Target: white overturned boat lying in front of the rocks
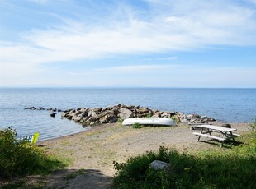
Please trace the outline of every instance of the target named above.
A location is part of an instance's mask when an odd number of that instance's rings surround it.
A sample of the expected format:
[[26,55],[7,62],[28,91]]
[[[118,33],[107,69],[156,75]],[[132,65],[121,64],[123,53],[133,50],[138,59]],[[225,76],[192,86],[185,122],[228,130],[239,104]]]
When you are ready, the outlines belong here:
[[135,124],[135,122],[138,122],[141,125],[176,125],[176,122],[174,122],[171,118],[127,118],[122,124],[132,125]]

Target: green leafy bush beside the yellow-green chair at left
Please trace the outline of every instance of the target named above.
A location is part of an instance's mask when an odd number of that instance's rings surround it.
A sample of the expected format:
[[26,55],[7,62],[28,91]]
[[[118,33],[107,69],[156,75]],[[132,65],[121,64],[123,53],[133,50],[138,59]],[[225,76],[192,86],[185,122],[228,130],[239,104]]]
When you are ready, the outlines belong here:
[[17,132],[12,127],[0,130],[0,177],[49,173],[53,168],[64,166],[59,160],[48,157],[36,145],[17,140]]

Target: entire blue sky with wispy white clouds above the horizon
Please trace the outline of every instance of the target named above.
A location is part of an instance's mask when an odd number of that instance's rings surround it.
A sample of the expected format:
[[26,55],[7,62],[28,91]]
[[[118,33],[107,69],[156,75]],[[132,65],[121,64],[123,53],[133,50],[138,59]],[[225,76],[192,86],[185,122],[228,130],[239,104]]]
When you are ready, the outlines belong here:
[[0,0],[0,87],[256,87],[256,0]]

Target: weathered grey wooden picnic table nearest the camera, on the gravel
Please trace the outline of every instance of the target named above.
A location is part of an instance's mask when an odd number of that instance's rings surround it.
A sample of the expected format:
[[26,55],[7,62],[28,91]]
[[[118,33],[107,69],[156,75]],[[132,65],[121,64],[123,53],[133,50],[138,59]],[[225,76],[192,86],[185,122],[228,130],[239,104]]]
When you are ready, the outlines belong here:
[[[198,125],[197,127],[201,128],[200,133],[199,132],[193,132],[194,135],[198,136],[198,140],[200,141],[201,136],[209,137],[211,139],[216,139],[218,141],[221,141],[220,147],[223,146],[224,141],[233,139],[235,141],[236,136],[240,136],[239,134],[233,133],[233,131],[236,131],[234,128],[226,128],[226,127],[219,127],[219,126],[213,126],[213,125]],[[220,133],[220,136],[213,136],[212,133]]]

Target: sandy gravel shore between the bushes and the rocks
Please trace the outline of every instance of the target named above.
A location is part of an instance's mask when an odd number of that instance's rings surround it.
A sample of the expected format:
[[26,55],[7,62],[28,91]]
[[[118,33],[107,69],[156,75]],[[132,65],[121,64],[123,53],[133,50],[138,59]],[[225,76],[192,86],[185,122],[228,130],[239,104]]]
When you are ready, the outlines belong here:
[[[221,124],[214,122],[214,125]],[[249,131],[249,123],[230,124],[237,129],[236,133],[243,135]],[[197,142],[197,136],[192,135],[192,130],[182,123],[176,127],[140,129],[121,126],[120,123],[104,124],[74,135],[41,141],[37,145],[47,154],[71,159],[72,162],[46,177],[49,188],[110,188],[115,174],[113,161],[125,162],[131,156],[158,150],[159,146],[181,151],[220,148],[220,145]],[[31,182],[35,179],[45,182],[45,178],[40,177],[33,177]]]

